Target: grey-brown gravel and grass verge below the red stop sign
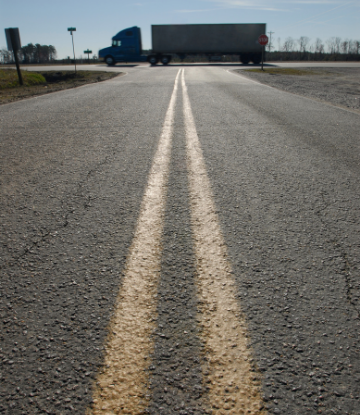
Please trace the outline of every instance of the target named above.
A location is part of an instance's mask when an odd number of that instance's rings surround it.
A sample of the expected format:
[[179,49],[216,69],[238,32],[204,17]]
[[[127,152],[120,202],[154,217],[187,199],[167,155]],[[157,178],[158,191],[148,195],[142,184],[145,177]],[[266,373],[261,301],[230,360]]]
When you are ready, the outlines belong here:
[[236,70],[263,84],[360,112],[360,68]]

